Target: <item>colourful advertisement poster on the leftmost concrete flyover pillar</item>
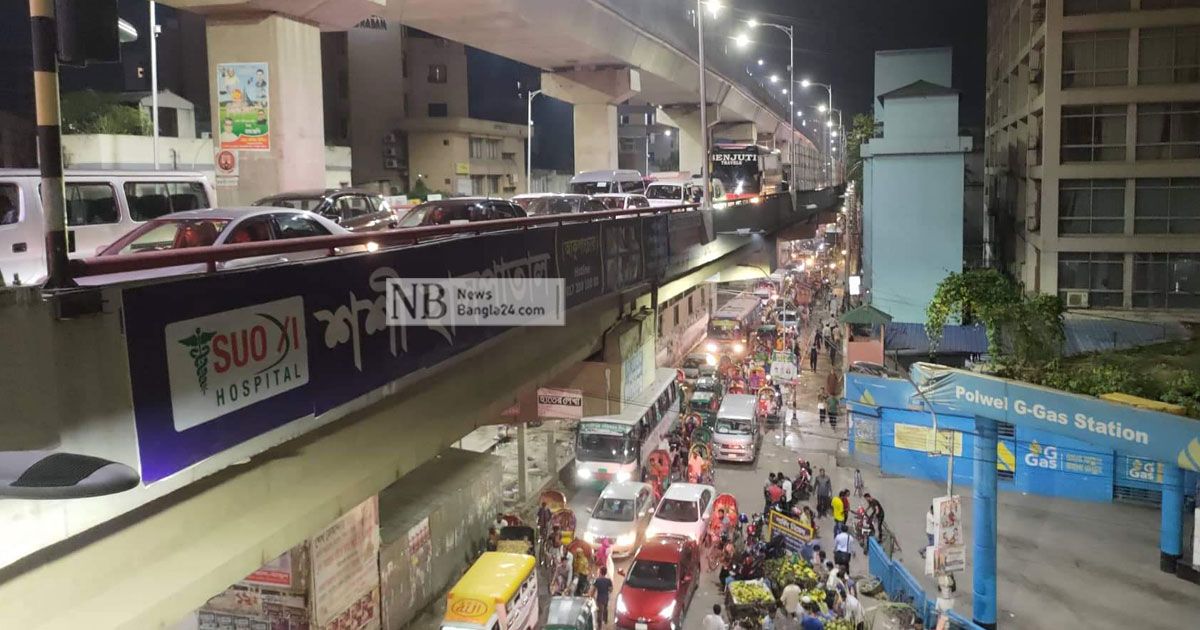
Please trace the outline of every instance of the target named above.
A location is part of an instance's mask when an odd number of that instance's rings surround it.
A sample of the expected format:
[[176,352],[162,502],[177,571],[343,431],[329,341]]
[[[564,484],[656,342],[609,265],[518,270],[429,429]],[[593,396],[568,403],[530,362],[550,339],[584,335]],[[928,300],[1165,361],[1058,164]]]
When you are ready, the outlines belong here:
[[270,71],[265,61],[217,64],[220,148],[270,151]]

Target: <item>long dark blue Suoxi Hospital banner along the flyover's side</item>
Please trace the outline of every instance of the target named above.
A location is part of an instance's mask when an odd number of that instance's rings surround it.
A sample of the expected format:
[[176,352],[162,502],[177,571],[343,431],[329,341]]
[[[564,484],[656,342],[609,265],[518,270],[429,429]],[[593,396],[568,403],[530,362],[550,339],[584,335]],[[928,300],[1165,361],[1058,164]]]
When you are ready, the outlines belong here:
[[[686,217],[668,220],[677,216]],[[566,277],[570,307],[641,282],[643,220],[484,234],[125,288],[142,479],[152,484],[295,420],[319,419],[506,330],[388,326],[390,278]],[[630,362],[631,377],[640,366]]]

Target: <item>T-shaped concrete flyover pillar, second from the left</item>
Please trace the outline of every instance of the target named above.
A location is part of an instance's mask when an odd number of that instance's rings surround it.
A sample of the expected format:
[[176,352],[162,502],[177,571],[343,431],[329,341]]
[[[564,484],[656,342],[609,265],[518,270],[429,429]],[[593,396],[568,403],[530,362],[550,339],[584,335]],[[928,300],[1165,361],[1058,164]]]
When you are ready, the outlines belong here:
[[617,106],[642,90],[641,74],[634,68],[542,72],[541,90],[575,106],[575,170],[617,168]]

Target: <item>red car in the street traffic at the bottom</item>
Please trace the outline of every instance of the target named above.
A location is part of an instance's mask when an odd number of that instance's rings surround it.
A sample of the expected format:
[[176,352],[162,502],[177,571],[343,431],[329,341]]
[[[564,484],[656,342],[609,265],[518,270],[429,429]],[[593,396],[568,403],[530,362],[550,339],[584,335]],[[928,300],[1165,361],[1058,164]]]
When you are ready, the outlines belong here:
[[617,628],[677,630],[700,582],[700,548],[683,536],[647,541],[617,593]]

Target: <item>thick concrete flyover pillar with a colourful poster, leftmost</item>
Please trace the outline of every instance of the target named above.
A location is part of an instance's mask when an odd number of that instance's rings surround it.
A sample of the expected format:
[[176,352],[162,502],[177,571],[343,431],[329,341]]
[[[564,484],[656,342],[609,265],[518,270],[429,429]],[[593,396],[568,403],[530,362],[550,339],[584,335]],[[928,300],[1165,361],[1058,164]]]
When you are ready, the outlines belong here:
[[[210,16],[208,44],[214,145],[241,145],[236,184],[217,188],[220,203],[250,205],[276,192],[323,188],[320,29],[280,16]],[[257,72],[262,64],[265,90]],[[235,73],[222,74],[229,70]],[[232,134],[230,124],[224,122],[230,116],[221,115],[222,103],[227,113],[234,113]],[[239,134],[244,124],[262,128],[264,121],[265,138]]]

